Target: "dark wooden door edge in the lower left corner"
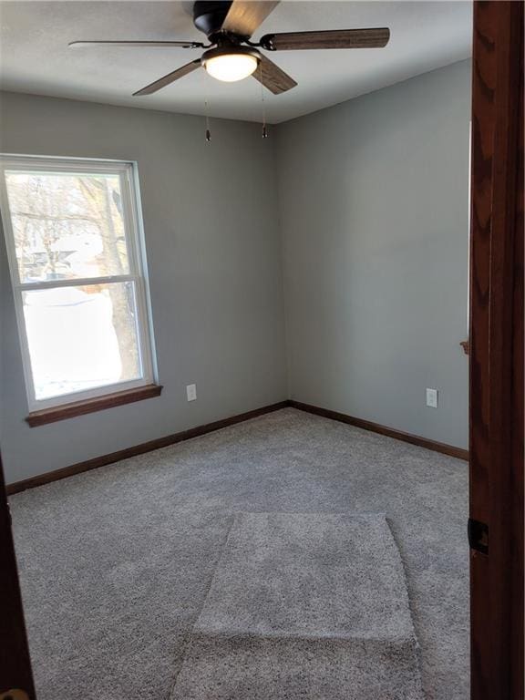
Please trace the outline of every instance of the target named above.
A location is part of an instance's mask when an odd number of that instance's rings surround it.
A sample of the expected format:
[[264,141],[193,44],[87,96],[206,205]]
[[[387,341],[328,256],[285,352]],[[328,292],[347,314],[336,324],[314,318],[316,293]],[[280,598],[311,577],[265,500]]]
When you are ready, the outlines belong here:
[[26,693],[28,700],[35,700],[35,685],[27,645],[26,622],[16,568],[11,516],[5,498],[1,458],[0,571],[2,571],[0,575],[0,695],[4,697],[7,691],[18,689]]

